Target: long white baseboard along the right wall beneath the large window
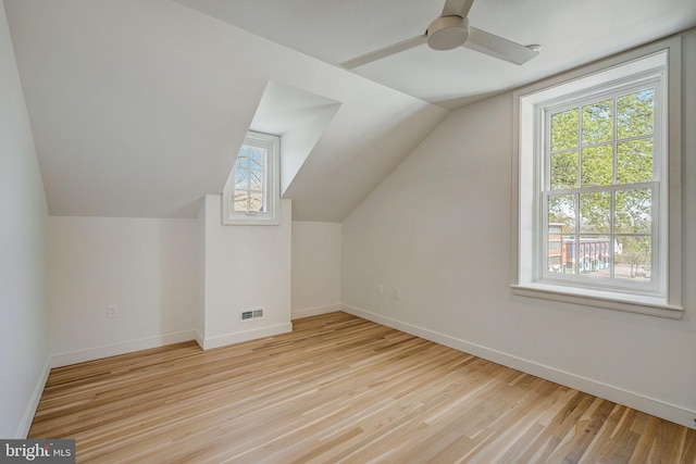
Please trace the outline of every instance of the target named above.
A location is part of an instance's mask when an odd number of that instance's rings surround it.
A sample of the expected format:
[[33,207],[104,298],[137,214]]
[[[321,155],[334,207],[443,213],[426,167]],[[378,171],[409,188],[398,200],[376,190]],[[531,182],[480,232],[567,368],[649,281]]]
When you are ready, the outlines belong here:
[[470,343],[445,334],[397,321],[391,317],[386,317],[359,308],[341,304],[341,311],[439,344],[444,344],[445,347],[449,347],[455,350],[473,354],[504,366],[512,367],[514,369],[555,381],[579,391],[594,394],[595,397],[604,398],[614,403],[626,405],[634,410],[642,411],[688,428],[696,428],[696,411],[689,411],[660,400],[647,398],[639,393],[612,387],[597,380],[569,372],[559,371],[547,365],[538,364],[497,350],[492,350],[480,344]]

